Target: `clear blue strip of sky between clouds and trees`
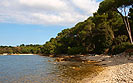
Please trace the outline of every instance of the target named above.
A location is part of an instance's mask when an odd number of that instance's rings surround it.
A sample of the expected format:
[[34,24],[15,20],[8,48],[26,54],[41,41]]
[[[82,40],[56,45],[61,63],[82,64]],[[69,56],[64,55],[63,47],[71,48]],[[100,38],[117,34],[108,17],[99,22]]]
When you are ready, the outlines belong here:
[[0,23],[0,45],[44,44],[66,26]]

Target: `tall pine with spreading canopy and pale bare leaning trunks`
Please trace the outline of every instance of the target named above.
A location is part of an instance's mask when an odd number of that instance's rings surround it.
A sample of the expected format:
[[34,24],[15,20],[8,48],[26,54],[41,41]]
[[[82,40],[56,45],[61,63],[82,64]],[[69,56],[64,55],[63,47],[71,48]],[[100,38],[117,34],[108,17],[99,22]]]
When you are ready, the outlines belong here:
[[100,3],[98,13],[106,13],[108,11],[117,11],[123,19],[123,23],[127,29],[130,42],[133,44],[131,25],[128,20],[129,9],[133,7],[133,0],[104,0]]

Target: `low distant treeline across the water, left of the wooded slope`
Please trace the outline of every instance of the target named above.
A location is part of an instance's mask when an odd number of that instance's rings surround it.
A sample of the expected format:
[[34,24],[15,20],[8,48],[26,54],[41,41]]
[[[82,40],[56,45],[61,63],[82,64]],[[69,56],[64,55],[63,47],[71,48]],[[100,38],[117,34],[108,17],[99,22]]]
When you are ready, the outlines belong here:
[[0,54],[41,54],[41,45],[0,46]]

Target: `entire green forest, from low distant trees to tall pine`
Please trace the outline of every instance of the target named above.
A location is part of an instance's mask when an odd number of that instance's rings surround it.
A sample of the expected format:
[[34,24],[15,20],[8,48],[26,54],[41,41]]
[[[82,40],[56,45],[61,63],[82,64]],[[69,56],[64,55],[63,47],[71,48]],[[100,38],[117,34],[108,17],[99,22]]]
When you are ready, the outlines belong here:
[[133,48],[132,36],[133,0],[104,0],[93,16],[44,45],[1,46],[0,54],[118,54]]

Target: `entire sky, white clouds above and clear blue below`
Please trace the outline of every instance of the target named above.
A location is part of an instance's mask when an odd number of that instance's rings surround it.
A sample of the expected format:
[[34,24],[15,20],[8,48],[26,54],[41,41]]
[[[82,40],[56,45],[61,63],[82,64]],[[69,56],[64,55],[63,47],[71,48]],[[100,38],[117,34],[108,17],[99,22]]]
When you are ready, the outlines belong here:
[[42,45],[92,16],[101,1],[0,0],[0,45]]

